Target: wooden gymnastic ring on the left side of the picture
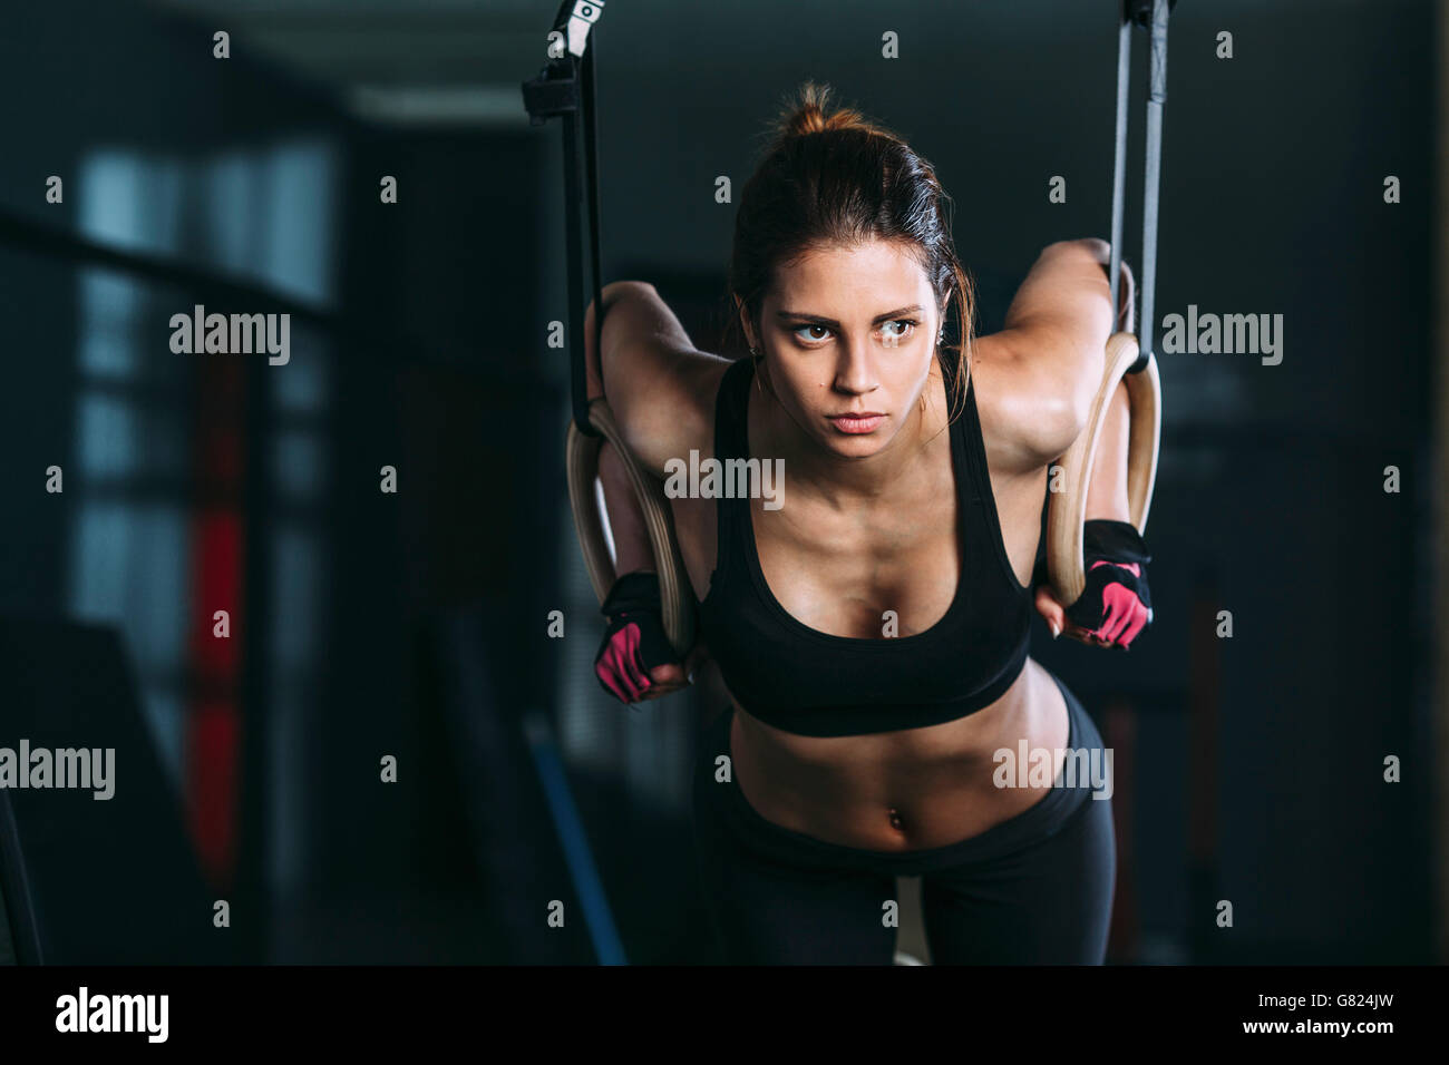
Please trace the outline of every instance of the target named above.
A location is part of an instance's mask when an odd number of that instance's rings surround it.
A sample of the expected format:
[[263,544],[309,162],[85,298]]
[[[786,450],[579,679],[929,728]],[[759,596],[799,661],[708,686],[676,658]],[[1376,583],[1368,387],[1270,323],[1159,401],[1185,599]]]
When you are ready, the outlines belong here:
[[609,540],[604,538],[603,514],[600,514],[598,496],[594,488],[598,478],[598,452],[604,446],[604,440],[609,440],[614,445],[625,469],[629,472],[629,484],[633,487],[635,498],[643,511],[645,526],[649,530],[649,546],[653,548],[653,567],[659,575],[664,635],[682,662],[694,646],[694,610],[690,600],[685,598],[694,591],[680,555],[678,539],[674,535],[674,511],[669,509],[669,500],[664,494],[661,481],[640,467],[629,448],[625,446],[619,426],[614,425],[614,414],[603,397],[590,401],[588,423],[600,432],[600,436],[581,433],[574,420],[569,419],[564,455],[568,471],[568,501],[574,509],[574,532],[578,533],[578,546],[584,552],[584,567],[594,585],[594,596],[603,606],[609,590],[614,587],[619,577],[609,551]]

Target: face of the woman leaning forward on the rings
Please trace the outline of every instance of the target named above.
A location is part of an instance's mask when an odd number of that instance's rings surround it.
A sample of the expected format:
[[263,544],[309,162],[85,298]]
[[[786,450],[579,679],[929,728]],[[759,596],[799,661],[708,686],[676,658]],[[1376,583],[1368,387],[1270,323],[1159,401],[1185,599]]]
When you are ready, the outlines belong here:
[[836,455],[867,458],[911,425],[940,309],[909,245],[869,241],[777,270],[759,329],[752,342],[791,420]]

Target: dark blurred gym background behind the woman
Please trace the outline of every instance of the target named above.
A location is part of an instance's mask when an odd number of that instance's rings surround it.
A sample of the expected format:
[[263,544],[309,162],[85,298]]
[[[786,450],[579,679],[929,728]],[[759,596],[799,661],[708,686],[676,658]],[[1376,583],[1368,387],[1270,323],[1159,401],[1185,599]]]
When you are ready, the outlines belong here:
[[[12,795],[48,959],[593,962],[613,926],[629,961],[713,961],[685,788],[704,707],[626,713],[588,669],[545,343],[562,154],[519,93],[555,4],[232,7],[67,0],[0,35],[0,746],[117,735],[146,781],[126,810]],[[604,278],[652,281],[714,348],[714,180],[739,193],[814,78],[936,165],[997,329],[1043,245],[1108,236],[1113,9],[611,1]],[[1156,622],[1130,656],[1033,636],[1119,751],[1111,961],[1435,959],[1433,39],[1427,0],[1172,16],[1159,317],[1281,313],[1285,349],[1159,356]],[[1126,246],[1137,268],[1130,225]],[[171,354],[194,303],[297,309],[291,362]],[[55,845],[107,833],[149,842]],[[97,875],[122,901],[46,901]]]

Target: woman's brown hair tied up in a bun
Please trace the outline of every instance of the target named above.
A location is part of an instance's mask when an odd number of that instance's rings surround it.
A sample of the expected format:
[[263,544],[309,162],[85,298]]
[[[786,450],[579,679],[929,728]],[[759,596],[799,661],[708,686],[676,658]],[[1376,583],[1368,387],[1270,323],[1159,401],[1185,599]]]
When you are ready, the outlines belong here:
[[842,107],[827,113],[830,87],[804,83],[771,125],[772,138],[740,196],[729,268],[729,326],[739,330],[738,298],[756,333],[774,271],[801,252],[868,239],[910,243],[930,278],[938,306],[956,307],[958,342],[946,338],[938,358],[951,354],[955,394],[951,417],[965,404],[971,374],[975,291],[956,259],[951,236],[952,200],[935,168],[895,133]]

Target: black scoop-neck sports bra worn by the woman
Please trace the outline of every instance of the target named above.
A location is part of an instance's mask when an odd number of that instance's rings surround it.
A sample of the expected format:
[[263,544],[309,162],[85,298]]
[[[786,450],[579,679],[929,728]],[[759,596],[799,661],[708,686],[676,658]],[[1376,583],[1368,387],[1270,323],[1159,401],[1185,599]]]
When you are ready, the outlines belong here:
[[[714,455],[749,456],[746,410],[753,364],[739,359],[714,403]],[[948,369],[946,387],[951,388]],[[793,617],[759,568],[751,500],[716,498],[719,539],[700,636],[739,704],[801,736],[919,729],[990,706],[1026,667],[1032,593],[1011,569],[987,471],[975,381],[951,425],[961,578],[945,616],[911,636],[856,639]]]

